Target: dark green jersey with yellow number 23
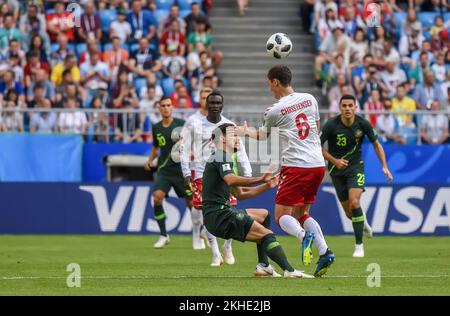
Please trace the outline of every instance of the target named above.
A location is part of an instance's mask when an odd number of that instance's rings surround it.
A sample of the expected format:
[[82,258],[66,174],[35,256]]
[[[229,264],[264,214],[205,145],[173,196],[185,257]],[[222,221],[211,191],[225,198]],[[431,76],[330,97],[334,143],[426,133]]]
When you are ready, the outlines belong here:
[[355,116],[352,126],[345,126],[341,121],[341,115],[328,120],[320,135],[322,145],[328,141],[328,152],[337,159],[346,159],[349,164],[343,170],[338,170],[333,164],[328,163],[331,176],[351,175],[355,172],[364,172],[361,146],[367,136],[370,142],[377,140],[377,132],[369,121],[359,115]]

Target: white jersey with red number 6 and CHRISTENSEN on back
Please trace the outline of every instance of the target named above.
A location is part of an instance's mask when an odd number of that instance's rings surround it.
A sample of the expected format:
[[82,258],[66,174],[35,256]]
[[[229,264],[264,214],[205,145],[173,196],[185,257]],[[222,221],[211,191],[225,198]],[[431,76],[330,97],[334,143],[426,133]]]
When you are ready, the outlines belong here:
[[[281,98],[264,113],[263,130],[274,127],[280,134],[281,165],[286,167],[324,167],[317,121],[317,100],[308,93],[292,93]],[[272,131],[274,132],[274,131]]]

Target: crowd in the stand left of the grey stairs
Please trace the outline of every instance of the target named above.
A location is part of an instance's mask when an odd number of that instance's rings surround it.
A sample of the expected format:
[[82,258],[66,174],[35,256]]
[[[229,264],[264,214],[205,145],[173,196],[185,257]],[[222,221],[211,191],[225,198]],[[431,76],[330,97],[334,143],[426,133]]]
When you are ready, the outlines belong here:
[[[175,108],[197,107],[202,87],[219,85],[222,53],[212,48],[211,5],[0,0],[0,131],[151,142],[157,114],[76,109],[156,109],[163,95]],[[12,110],[18,108],[73,110]]]

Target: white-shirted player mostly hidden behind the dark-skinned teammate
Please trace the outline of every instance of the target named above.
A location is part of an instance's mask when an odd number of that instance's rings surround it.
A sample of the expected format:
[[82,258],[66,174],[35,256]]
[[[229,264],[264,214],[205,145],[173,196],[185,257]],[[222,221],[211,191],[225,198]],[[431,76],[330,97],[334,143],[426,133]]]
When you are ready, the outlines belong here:
[[[193,138],[194,128],[201,125],[201,121],[208,114],[208,110],[206,108],[206,98],[213,90],[208,87],[204,87],[200,91],[200,109],[189,116],[184,124],[182,136],[185,133],[189,134],[189,137]],[[187,144],[188,143],[188,144]],[[192,142],[183,142],[180,144],[180,158],[181,158],[181,171],[183,172],[183,177],[185,179],[185,186],[193,191],[196,194],[194,188],[192,187],[193,178],[195,178],[195,164],[191,161],[191,152],[194,149],[191,145]],[[186,148],[184,146],[187,146]],[[197,194],[198,196],[198,194]],[[201,196],[201,193],[200,193]],[[202,215],[202,207],[200,205],[196,205],[194,201],[194,208],[191,212],[191,220],[192,220],[192,247],[196,250],[205,248],[205,241],[201,238],[201,227],[203,222]],[[199,206],[199,207],[198,207]],[[202,231],[204,232],[204,230]],[[206,239],[207,240],[207,239]]]

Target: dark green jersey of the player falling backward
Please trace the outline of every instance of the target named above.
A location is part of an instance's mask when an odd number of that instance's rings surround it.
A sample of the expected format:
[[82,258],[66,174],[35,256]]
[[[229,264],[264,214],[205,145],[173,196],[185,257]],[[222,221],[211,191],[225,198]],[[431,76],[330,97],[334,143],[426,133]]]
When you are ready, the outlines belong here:
[[203,216],[230,207],[231,188],[223,178],[227,174],[234,173],[233,170],[234,163],[231,156],[222,150],[217,150],[208,159],[202,183]]

